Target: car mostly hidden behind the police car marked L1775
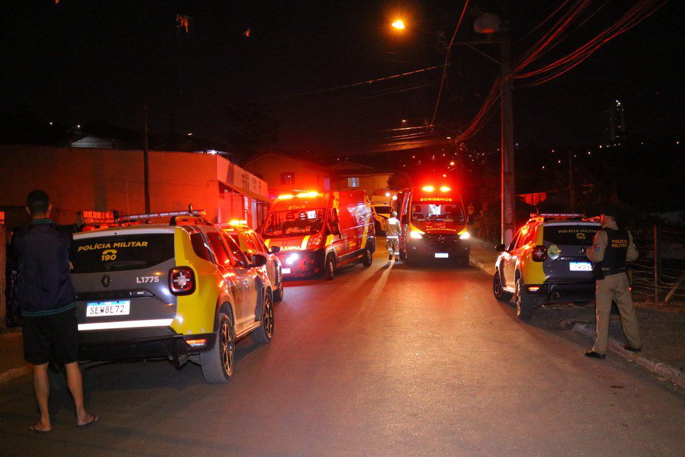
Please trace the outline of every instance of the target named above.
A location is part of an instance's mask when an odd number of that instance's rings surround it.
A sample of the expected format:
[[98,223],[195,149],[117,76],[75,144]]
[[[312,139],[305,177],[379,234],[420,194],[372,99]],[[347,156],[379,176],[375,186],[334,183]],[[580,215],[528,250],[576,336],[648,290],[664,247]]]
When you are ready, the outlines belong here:
[[248,227],[246,221],[231,221],[217,227],[238,243],[247,258],[251,258],[252,254],[262,254],[266,257],[264,268],[269,275],[269,281],[273,284],[273,301],[281,301],[284,293],[283,271],[281,261],[276,255],[281,249],[278,246],[272,246],[271,249],[266,247],[262,237]]

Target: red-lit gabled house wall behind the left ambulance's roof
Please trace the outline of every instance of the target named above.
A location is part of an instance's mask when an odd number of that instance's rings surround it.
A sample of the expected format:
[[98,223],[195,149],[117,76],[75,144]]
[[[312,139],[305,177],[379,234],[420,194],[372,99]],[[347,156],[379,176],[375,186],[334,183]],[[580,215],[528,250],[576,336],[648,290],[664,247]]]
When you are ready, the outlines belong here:
[[[328,172],[323,166],[314,163],[268,153],[247,162],[244,167],[266,181],[270,194],[294,189],[327,190],[324,179],[328,177]],[[282,184],[281,175],[288,172],[294,174],[295,180],[292,184]]]

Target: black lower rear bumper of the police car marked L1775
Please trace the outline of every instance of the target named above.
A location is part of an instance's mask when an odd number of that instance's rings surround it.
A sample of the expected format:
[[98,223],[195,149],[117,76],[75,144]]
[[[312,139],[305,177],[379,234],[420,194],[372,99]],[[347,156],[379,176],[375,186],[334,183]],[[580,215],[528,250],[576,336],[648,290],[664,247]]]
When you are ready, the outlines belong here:
[[90,330],[79,332],[79,340],[81,360],[163,357],[171,358],[180,366],[188,356],[210,351],[216,342],[216,333],[183,335],[171,327]]

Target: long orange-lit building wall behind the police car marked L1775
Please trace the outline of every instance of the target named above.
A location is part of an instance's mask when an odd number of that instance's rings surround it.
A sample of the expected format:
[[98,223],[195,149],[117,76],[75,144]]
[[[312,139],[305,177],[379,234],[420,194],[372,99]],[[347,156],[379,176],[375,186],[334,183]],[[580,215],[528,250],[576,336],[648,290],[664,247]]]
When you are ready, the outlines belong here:
[[[184,210],[192,203],[215,221],[217,160],[225,159],[184,152],[149,154],[151,210]],[[53,202],[53,220],[61,224],[77,223],[77,212],[83,210],[141,214],[145,212],[143,180],[142,151],[0,145],[0,210],[21,208],[31,190],[42,189]],[[14,213],[18,211],[8,214]],[[242,219],[242,214],[230,216]],[[7,222],[8,226],[23,223]]]

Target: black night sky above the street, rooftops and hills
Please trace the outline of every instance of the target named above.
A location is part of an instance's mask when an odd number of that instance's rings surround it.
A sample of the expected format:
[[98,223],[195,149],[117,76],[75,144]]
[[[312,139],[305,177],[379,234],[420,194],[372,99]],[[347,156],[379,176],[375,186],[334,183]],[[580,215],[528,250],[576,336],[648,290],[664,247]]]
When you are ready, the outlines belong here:
[[[510,3],[514,58],[549,29],[551,23],[525,37],[561,3]],[[533,67],[584,44],[635,1],[604,3],[596,1],[589,11],[599,11]],[[471,1],[456,41],[482,38],[473,32],[477,12],[503,14],[503,5]],[[444,31],[449,41],[462,6],[462,1],[3,1],[0,110],[25,106],[45,121],[140,128],[148,103],[153,132],[173,128],[225,140],[225,107],[256,101],[280,124],[279,149],[328,157],[363,153],[388,136],[384,130],[401,126],[401,119],[421,125],[432,115],[439,70],[297,94],[442,64],[437,37],[427,32]],[[606,141],[603,111],[612,99],[623,101],[631,134],[680,136],[683,12],[683,2],[671,0],[569,73],[543,86],[516,87],[516,141],[549,146]],[[177,28],[177,14],[190,16],[187,34]],[[408,22],[404,34],[389,27],[397,17]],[[499,58],[495,45],[479,49]],[[458,130],[473,118],[499,69],[463,46],[452,49],[451,63],[436,123]],[[498,142],[499,116],[469,140],[485,148]]]

